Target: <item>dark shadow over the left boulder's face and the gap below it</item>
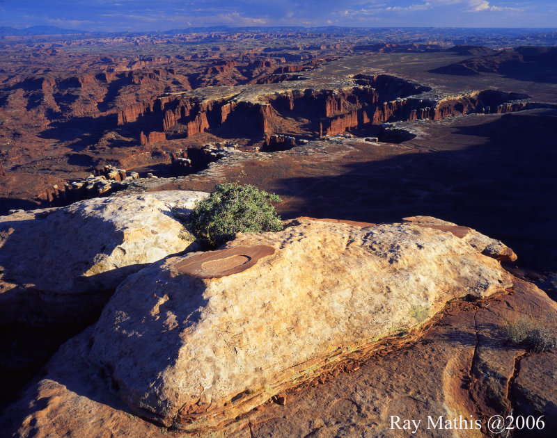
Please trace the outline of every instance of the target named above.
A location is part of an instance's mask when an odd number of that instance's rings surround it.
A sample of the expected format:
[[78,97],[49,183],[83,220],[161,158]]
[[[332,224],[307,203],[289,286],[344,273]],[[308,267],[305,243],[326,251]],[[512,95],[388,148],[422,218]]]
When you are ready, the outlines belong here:
[[[100,237],[79,232],[82,227]],[[97,321],[123,279],[145,266],[85,277],[90,268],[95,272],[96,254],[112,254],[123,243],[123,232],[91,215],[55,211],[35,220],[3,222],[0,231],[8,229],[13,232],[0,251],[0,371],[10,383],[1,391],[1,407],[61,343]]]

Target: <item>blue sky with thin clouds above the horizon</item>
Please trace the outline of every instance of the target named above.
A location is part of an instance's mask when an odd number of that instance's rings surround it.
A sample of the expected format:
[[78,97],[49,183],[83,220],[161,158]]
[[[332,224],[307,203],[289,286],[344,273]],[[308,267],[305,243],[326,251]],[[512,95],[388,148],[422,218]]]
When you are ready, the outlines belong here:
[[557,1],[0,0],[0,26],[155,31],[220,24],[557,27]]

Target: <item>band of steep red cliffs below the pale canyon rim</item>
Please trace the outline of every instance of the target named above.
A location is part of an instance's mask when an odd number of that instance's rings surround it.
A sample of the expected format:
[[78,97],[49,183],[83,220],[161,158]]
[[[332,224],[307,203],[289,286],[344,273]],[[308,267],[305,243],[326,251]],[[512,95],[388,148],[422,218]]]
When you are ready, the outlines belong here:
[[164,96],[124,108],[118,113],[118,125],[136,129],[142,145],[205,131],[239,138],[302,132],[317,137],[338,135],[367,124],[506,113],[540,105],[524,102],[526,95],[499,90],[420,98],[430,88],[406,79],[363,74],[353,79],[353,87],[288,90],[262,95],[258,102]]

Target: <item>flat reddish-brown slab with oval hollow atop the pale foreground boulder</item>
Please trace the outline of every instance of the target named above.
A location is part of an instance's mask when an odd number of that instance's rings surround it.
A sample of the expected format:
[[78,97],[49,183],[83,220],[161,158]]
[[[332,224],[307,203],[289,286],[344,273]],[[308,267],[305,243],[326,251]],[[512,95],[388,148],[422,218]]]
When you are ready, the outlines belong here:
[[221,278],[251,268],[259,259],[274,254],[268,245],[235,246],[226,250],[205,252],[178,263],[178,273],[199,278]]

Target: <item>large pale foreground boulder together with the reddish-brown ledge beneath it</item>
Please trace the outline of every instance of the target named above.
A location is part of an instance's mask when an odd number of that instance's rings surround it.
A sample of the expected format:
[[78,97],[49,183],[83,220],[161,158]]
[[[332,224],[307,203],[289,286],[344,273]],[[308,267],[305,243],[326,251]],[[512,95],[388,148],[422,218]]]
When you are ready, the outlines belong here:
[[[555,353],[509,344],[502,327],[531,315],[557,333],[557,305],[455,234],[300,218],[155,263],[56,353],[0,430],[184,435],[164,422],[201,436],[398,437],[391,415],[485,424],[510,407],[553,421],[554,376],[528,366],[554,369]],[[447,432],[487,430],[427,430]]]

